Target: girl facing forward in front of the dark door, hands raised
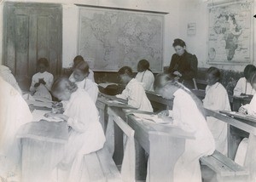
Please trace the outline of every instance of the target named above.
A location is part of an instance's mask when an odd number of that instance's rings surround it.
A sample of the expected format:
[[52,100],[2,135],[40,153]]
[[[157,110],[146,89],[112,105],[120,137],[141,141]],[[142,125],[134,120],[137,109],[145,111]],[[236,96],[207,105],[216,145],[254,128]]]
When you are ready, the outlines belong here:
[[54,81],[54,77],[51,73],[46,71],[49,67],[49,61],[46,58],[40,58],[37,66],[39,72],[32,77],[30,91],[37,96],[52,100],[49,91]]

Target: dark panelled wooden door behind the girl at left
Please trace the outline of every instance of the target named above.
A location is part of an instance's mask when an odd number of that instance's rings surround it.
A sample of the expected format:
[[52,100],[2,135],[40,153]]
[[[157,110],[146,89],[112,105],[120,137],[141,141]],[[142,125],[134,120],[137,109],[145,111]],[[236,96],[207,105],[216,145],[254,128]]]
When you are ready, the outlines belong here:
[[52,3],[5,3],[3,63],[22,89],[28,89],[39,58],[49,60],[49,72],[61,74],[62,9]]

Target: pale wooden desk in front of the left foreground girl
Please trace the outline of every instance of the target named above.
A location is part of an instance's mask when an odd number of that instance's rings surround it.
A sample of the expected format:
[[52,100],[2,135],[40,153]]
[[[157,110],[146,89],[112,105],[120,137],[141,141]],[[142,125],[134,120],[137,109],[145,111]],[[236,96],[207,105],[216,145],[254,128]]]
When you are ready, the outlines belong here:
[[50,181],[52,170],[64,156],[67,122],[29,122],[20,128],[17,137],[22,145],[22,181]]

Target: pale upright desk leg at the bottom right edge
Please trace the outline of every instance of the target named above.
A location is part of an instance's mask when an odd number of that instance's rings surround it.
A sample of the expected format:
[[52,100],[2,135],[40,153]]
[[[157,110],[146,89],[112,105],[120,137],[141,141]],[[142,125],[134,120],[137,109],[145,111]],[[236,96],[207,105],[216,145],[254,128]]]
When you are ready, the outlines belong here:
[[247,145],[247,155],[245,160],[245,166],[249,169],[250,180],[255,181],[256,179],[256,136],[250,134],[248,145]]

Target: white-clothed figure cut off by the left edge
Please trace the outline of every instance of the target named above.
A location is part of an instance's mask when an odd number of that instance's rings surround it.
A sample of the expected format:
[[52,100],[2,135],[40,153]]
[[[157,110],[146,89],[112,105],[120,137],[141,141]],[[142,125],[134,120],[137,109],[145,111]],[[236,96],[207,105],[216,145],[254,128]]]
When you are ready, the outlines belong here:
[[0,77],[0,181],[20,181],[20,140],[15,138],[21,125],[32,121],[32,114],[21,94]]

